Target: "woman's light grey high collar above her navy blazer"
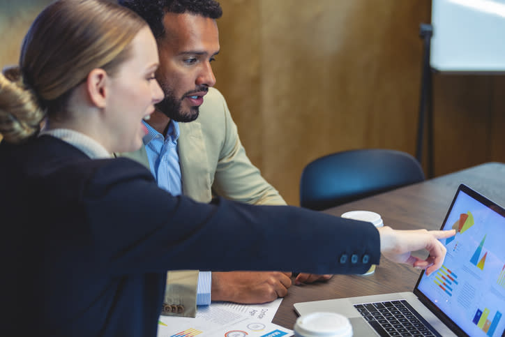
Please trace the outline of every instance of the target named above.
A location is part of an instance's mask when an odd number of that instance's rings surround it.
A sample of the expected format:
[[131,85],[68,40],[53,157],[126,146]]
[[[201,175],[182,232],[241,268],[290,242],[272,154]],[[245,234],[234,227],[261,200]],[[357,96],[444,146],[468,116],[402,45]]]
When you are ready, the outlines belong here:
[[96,140],[84,135],[84,133],[77,132],[75,130],[70,130],[68,128],[55,128],[51,130],[42,130],[39,133],[41,135],[52,135],[52,137],[59,138],[63,142],[67,142],[82,152],[86,153],[91,159],[100,158],[111,158],[111,154]]

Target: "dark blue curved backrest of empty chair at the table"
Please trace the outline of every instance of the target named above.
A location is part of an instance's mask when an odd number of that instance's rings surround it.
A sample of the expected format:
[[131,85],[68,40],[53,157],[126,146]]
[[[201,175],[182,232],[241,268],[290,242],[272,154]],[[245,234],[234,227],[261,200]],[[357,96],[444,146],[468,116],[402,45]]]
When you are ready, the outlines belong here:
[[300,205],[322,210],[425,179],[409,153],[389,149],[342,151],[317,158],[301,174]]

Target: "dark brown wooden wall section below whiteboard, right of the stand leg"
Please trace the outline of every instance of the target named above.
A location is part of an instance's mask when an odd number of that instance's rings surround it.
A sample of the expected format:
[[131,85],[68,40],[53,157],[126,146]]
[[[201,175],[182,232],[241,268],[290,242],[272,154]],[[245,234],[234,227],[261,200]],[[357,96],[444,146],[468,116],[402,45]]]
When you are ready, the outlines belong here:
[[488,161],[492,77],[437,74],[433,89],[435,175]]

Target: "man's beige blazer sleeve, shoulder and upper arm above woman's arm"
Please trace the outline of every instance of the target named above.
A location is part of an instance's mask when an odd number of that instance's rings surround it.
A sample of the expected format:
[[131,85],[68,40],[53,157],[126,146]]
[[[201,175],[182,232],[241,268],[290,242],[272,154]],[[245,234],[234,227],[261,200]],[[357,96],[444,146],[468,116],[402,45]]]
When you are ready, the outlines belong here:
[[[246,204],[286,204],[278,190],[262,177],[255,165],[252,165],[240,141],[225,98],[217,89],[212,90],[212,105],[209,105],[209,109],[215,110],[213,116],[216,117],[212,123],[220,125],[211,127],[225,135],[223,143],[220,144],[218,164],[213,177],[213,192],[229,200]],[[206,126],[202,126],[204,127]]]

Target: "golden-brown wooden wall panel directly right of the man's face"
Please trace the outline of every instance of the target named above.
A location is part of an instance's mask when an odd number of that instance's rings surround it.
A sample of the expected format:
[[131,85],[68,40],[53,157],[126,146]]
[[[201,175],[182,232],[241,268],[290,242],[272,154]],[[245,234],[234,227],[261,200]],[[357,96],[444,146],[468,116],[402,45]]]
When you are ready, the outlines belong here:
[[[216,88],[225,93],[241,141],[255,165],[262,167],[261,35],[259,1],[223,2],[223,17],[218,20],[220,54],[213,63]],[[223,38],[221,38],[223,36]]]

